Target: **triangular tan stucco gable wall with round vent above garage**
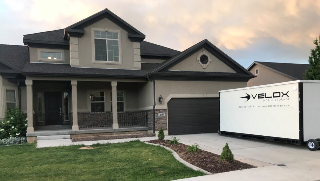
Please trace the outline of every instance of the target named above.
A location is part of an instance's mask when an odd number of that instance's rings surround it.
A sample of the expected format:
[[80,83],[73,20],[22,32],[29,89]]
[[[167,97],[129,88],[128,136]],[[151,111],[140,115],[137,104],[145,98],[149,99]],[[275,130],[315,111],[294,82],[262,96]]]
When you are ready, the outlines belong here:
[[185,71],[208,71],[208,72],[236,72],[231,69],[228,65],[221,62],[217,57],[213,56],[211,53],[206,51],[209,54],[212,62],[204,69],[197,62],[197,57],[199,53],[205,51],[205,49],[201,49],[193,55],[189,56],[185,60],[179,62],[177,65],[173,66],[169,70],[185,70]]

